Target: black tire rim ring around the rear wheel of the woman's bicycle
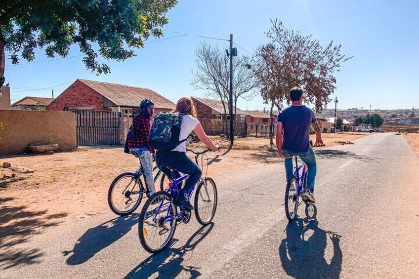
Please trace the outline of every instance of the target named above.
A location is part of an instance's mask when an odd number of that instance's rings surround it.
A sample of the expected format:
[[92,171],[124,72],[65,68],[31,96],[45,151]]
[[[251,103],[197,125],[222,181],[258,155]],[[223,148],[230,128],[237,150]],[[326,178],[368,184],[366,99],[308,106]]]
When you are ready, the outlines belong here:
[[[147,252],[151,253],[151,254],[156,254],[159,253],[161,251],[163,251],[164,249],[166,249],[166,247],[170,244],[171,239],[173,239],[174,236],[174,232],[176,231],[176,224],[177,224],[177,220],[174,219],[172,222],[174,222],[174,224],[172,225],[172,230],[168,235],[168,239],[166,239],[166,241],[164,242],[164,245],[162,245],[161,247],[157,248],[157,249],[153,249],[152,247],[150,247],[147,244],[147,241],[145,239],[145,231],[144,231],[144,218],[145,215],[147,213],[147,209],[150,206],[151,202],[156,199],[159,198],[159,196],[162,196],[162,198],[164,199],[168,199],[170,200],[170,195],[167,192],[157,192],[153,195],[151,195],[151,197],[145,202],[143,209],[141,210],[141,214],[140,217],[138,218],[138,237],[140,239],[140,243],[141,246],[143,246],[144,250],[146,250]],[[171,208],[173,210],[173,215],[176,216],[177,215],[177,208],[176,206],[173,204],[173,202],[171,203]],[[167,211],[162,211],[162,212],[167,212]],[[148,232],[147,232],[148,235]],[[148,237],[148,236],[147,236]]]

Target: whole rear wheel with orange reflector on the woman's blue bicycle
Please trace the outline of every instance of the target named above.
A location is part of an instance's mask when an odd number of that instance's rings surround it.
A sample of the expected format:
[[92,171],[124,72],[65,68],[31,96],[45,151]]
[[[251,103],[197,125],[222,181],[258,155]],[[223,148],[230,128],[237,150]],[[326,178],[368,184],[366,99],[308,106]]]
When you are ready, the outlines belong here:
[[176,206],[166,192],[157,192],[146,201],[139,218],[138,236],[147,252],[158,253],[168,246],[176,230],[176,214]]

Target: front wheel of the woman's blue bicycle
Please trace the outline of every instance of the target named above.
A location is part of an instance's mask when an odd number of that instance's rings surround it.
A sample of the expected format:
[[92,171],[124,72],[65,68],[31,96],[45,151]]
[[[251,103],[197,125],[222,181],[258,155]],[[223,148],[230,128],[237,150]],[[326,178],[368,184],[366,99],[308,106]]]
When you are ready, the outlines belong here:
[[198,185],[195,193],[195,217],[201,225],[210,224],[217,209],[217,187],[212,178],[206,177],[205,183]]

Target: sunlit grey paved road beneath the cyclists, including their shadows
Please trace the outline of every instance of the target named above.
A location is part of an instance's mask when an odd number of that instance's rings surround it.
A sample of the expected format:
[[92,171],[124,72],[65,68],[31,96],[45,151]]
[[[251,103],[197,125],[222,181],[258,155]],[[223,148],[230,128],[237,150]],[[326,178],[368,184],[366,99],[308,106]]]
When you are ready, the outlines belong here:
[[289,224],[283,166],[258,164],[218,177],[213,224],[179,226],[158,255],[142,249],[137,214],[105,208],[20,243],[0,239],[14,245],[0,278],[419,278],[419,159],[404,138],[375,134],[317,158],[315,220],[301,206]]

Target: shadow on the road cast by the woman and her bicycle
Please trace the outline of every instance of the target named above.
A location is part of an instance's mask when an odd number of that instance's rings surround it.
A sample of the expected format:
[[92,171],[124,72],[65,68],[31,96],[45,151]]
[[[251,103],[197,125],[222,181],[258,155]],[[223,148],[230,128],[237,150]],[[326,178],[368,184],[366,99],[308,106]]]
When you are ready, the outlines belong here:
[[[158,274],[156,278],[176,278],[181,272],[189,273],[187,278],[198,278],[202,275],[201,272],[199,272],[200,268],[185,265],[185,256],[188,252],[190,252],[190,256],[192,256],[195,247],[205,239],[213,227],[214,223],[210,223],[206,227],[201,227],[182,247],[170,247],[158,254],[151,255],[128,273],[125,279],[149,278],[152,275],[156,276],[156,273]],[[171,246],[177,241],[177,239],[173,240]]]

